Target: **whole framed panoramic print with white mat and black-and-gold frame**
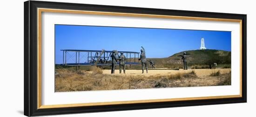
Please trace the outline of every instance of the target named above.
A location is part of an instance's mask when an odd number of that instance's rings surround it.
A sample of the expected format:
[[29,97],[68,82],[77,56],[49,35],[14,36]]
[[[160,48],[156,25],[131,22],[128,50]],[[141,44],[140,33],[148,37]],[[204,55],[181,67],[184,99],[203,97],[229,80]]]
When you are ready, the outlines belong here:
[[24,3],[24,115],[246,102],[246,15]]

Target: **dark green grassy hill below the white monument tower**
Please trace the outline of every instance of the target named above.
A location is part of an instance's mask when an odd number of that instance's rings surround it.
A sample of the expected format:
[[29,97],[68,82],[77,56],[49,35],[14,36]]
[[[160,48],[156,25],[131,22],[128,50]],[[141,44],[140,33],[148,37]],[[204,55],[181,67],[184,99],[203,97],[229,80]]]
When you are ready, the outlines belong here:
[[[189,53],[187,55],[187,64],[191,65],[208,65],[209,63],[217,63],[217,65],[230,65],[231,64],[231,52],[222,50],[190,50],[183,51]],[[183,52],[175,53],[168,58],[148,58],[155,62],[155,65],[165,68],[182,68],[182,57]]]

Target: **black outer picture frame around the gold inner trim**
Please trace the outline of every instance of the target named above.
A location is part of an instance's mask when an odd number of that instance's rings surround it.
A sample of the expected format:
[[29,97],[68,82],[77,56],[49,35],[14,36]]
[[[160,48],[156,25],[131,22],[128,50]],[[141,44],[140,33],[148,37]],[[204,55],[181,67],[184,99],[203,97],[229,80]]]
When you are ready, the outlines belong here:
[[[38,109],[37,8],[40,8],[40,7],[54,8],[54,9],[100,11],[100,12],[139,13],[139,14],[242,20],[242,97]],[[53,115],[53,114],[81,113],[81,112],[138,110],[138,109],[154,109],[154,108],[196,106],[196,105],[209,105],[209,104],[245,103],[247,102],[246,17],[247,17],[246,14],[211,13],[211,12],[153,9],[153,8],[139,8],[139,7],[118,7],[118,6],[32,1],[32,0],[26,1],[24,2],[24,115],[40,116],[40,115]]]

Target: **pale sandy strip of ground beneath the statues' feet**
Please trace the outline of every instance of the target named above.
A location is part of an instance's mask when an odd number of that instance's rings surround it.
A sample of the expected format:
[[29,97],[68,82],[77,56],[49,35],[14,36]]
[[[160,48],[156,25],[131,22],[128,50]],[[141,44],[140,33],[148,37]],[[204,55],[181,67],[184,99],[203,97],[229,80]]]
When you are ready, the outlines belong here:
[[[197,76],[209,76],[214,71],[220,71],[222,74],[229,73],[231,71],[230,68],[227,69],[193,69]],[[102,70],[103,74],[111,74],[111,70]],[[148,70],[148,73],[146,73],[146,70],[144,70],[144,74],[146,76],[150,75],[168,75],[168,74],[176,74],[176,73],[186,73],[190,72],[190,70]],[[141,70],[125,70],[126,74],[119,73],[119,70],[115,70],[115,75],[139,75],[141,74]]]

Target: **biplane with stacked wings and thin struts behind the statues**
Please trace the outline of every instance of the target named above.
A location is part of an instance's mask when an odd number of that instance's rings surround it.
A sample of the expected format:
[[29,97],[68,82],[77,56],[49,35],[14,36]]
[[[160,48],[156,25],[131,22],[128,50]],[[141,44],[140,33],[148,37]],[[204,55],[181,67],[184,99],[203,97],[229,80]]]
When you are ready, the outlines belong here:
[[[111,53],[112,51],[106,50],[61,50],[63,51],[63,63],[62,65],[67,66],[86,66],[86,65],[97,65],[97,66],[108,66],[111,65]],[[139,64],[140,52],[129,52],[129,51],[118,51],[123,52],[126,56],[126,65]],[[118,54],[117,54],[118,58]],[[117,63],[119,65],[119,63]]]

